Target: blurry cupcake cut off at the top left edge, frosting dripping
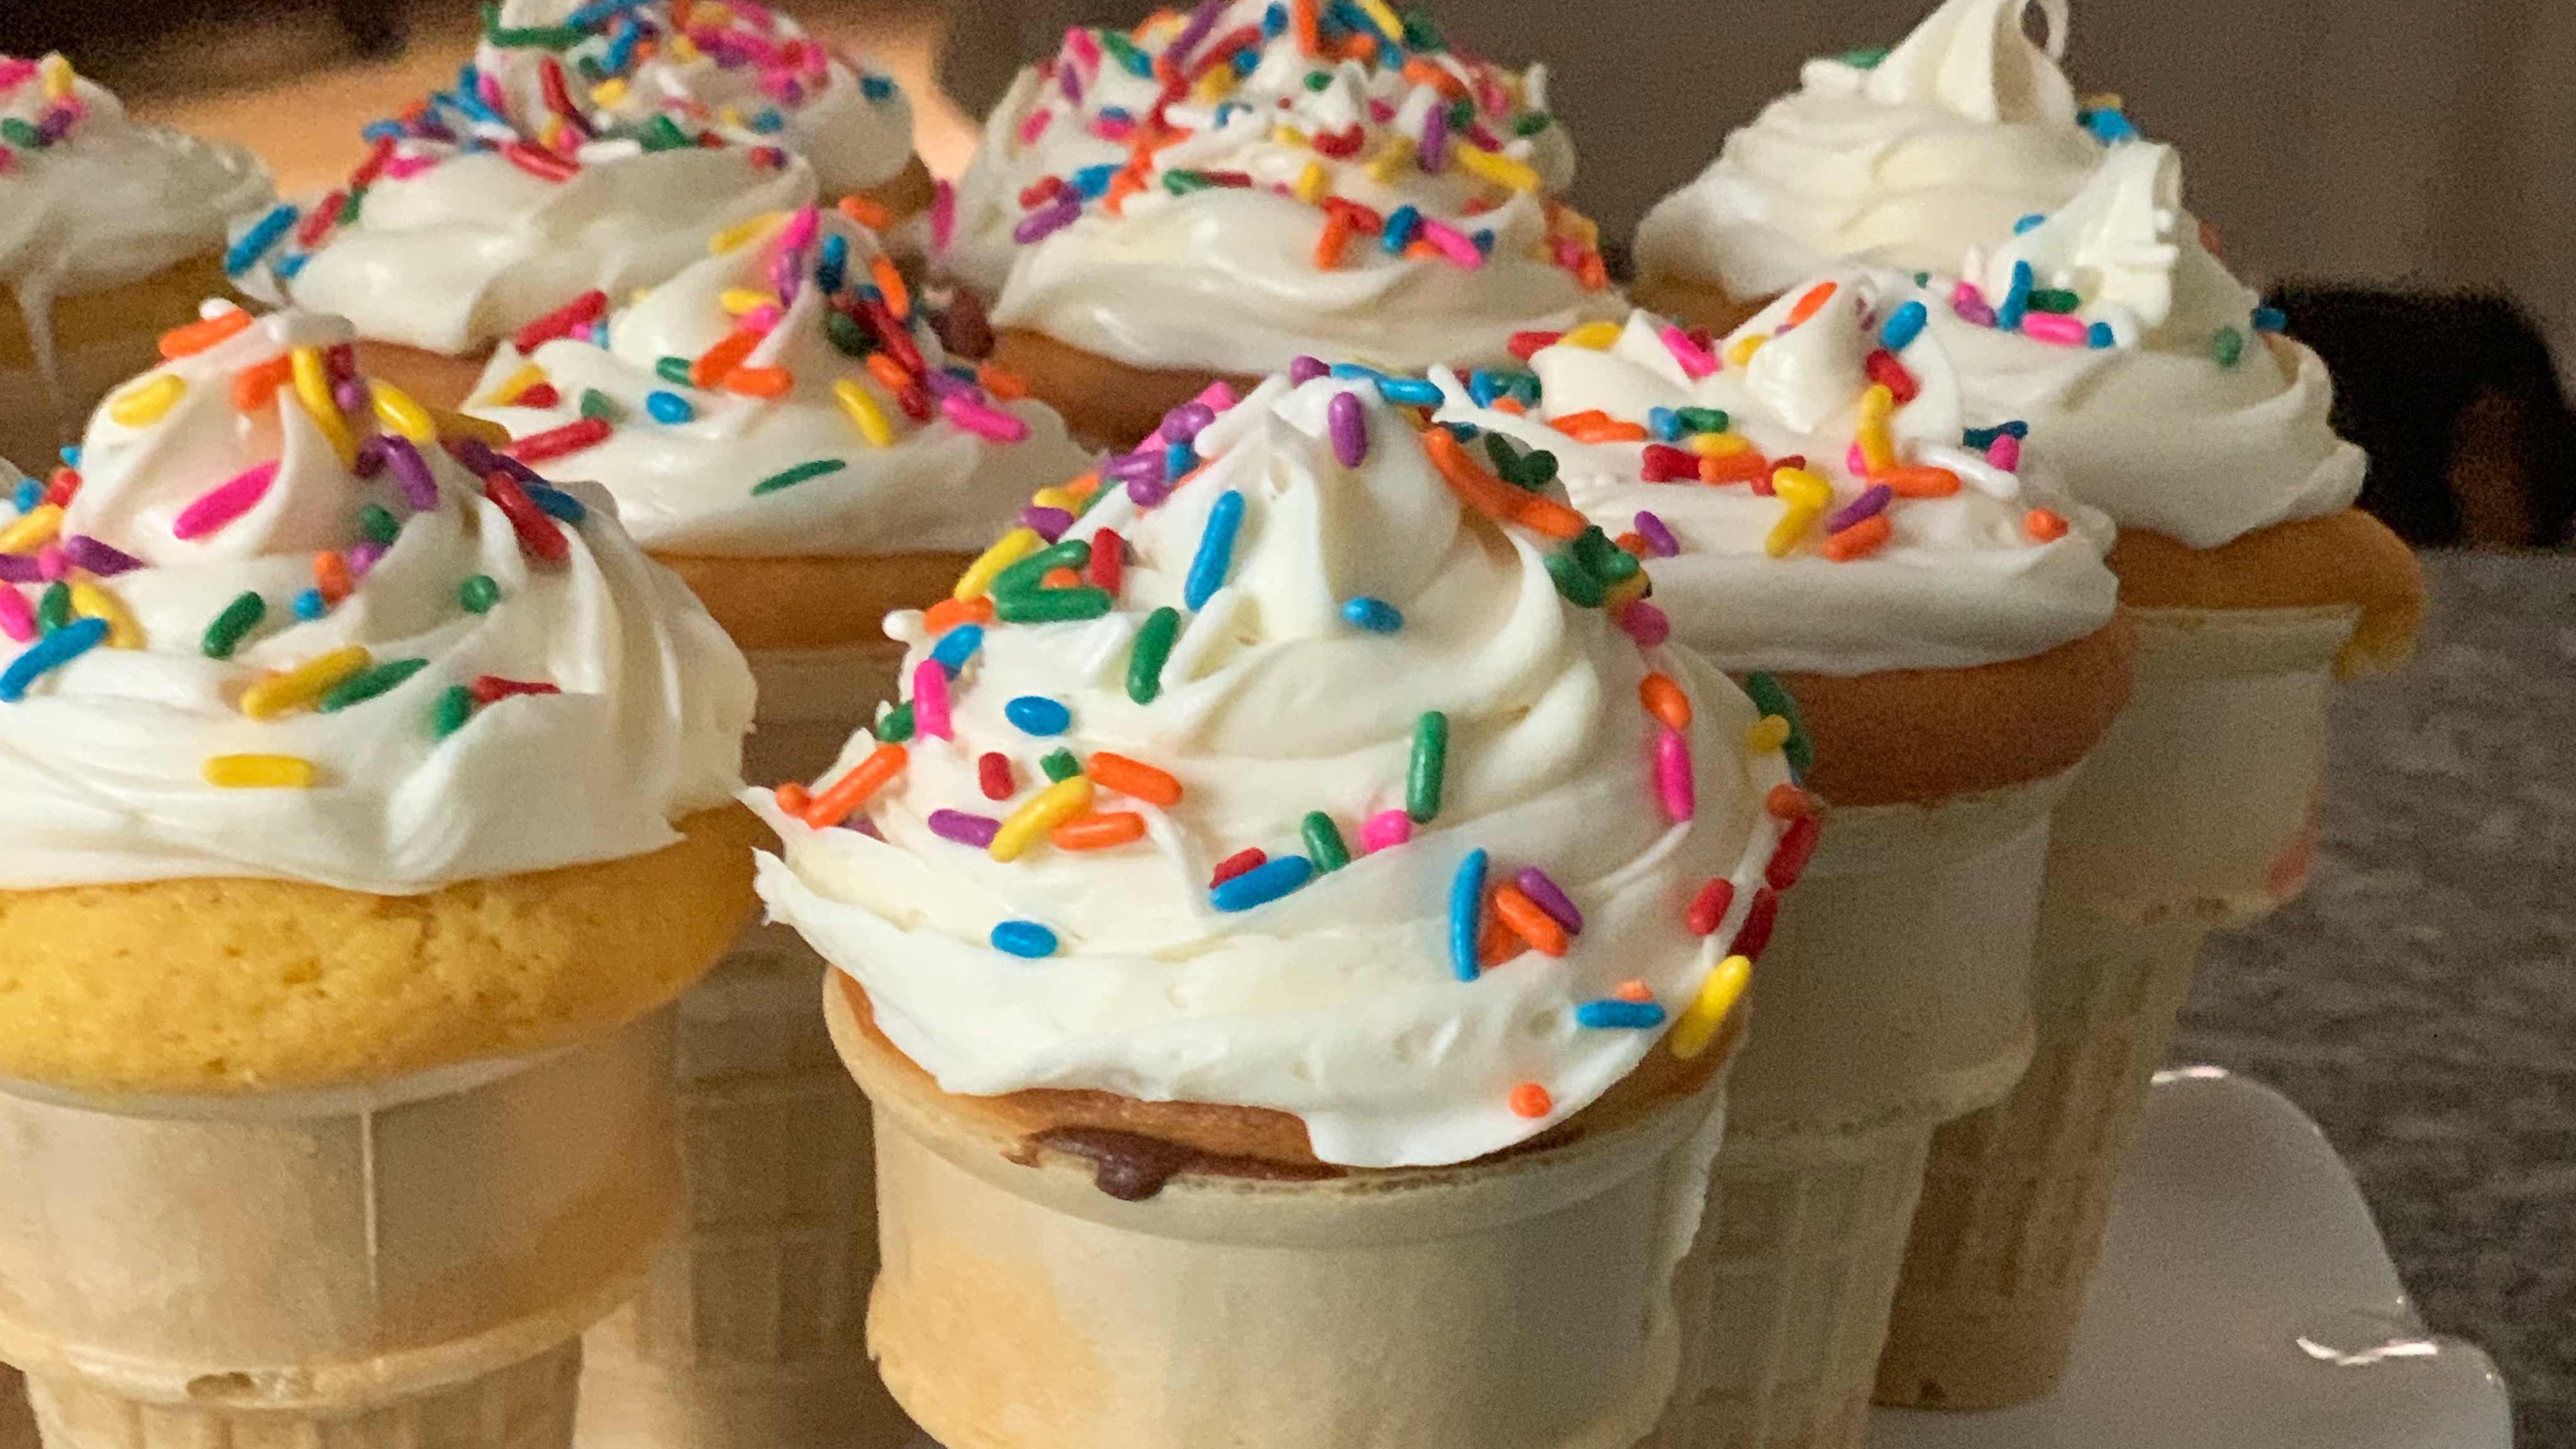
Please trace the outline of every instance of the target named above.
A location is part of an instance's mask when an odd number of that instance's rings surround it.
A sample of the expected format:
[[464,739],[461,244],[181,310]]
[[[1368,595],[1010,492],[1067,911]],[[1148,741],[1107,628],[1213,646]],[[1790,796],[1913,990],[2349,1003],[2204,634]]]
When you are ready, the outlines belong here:
[[0,57],[0,456],[54,467],[224,291],[224,227],[273,196],[250,152],[137,126],[59,54]]

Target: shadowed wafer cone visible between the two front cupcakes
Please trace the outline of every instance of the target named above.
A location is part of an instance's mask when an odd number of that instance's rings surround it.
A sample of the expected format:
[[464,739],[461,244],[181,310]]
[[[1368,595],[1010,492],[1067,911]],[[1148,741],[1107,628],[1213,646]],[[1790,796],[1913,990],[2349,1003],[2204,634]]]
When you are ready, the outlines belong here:
[[[744,773],[811,781],[891,694],[902,647],[752,655]],[[590,1333],[585,1449],[899,1449],[866,1354],[876,1276],[868,1104],[832,1052],[824,964],[752,926],[680,1003],[688,1207],[644,1294]]]

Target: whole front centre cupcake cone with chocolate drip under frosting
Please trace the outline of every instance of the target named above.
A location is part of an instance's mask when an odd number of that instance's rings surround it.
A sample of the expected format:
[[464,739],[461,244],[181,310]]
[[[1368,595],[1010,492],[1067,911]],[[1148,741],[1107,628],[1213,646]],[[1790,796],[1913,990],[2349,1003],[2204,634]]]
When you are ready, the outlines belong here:
[[1633,559],[1321,371],[1007,536],[989,619],[894,624],[873,737],[752,794],[876,1106],[868,1346],[953,1449],[1625,1446],[1672,1397],[1788,771],[1623,632]]

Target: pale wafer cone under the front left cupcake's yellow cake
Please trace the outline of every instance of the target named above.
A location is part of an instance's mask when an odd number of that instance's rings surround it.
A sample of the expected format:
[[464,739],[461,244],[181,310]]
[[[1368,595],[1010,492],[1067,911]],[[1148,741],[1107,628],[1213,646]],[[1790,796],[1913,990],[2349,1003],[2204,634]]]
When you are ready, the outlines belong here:
[[0,1091],[0,1356],[46,1449],[562,1449],[677,1207],[670,1013],[345,1091]]

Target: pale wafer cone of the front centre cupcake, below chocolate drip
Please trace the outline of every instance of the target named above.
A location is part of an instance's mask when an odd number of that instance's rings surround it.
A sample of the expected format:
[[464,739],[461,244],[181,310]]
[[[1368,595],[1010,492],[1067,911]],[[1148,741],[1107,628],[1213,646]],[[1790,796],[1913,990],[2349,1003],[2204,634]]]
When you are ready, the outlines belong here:
[[1631,1449],[1672,1395],[1718,1085],[1463,1168],[1118,1201],[824,998],[876,1109],[868,1346],[948,1449]]

